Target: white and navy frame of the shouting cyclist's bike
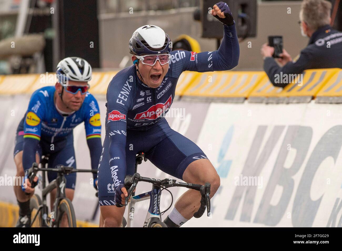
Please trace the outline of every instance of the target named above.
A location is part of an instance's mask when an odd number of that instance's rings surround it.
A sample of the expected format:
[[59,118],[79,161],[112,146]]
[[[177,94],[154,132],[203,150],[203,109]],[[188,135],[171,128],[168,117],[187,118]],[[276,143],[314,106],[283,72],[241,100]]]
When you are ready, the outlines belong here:
[[160,196],[161,196],[160,191],[161,191],[160,187],[153,185],[151,191],[131,197],[131,201],[128,203],[129,211],[128,211],[128,216],[127,216],[126,227],[133,227],[135,203],[146,200],[146,199],[150,199],[150,204],[149,204],[149,208],[146,214],[143,227],[147,227],[147,222],[150,218],[160,219],[160,212],[158,209],[160,208]]

